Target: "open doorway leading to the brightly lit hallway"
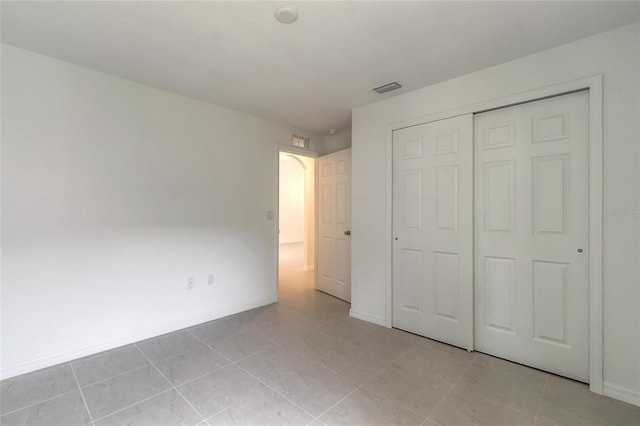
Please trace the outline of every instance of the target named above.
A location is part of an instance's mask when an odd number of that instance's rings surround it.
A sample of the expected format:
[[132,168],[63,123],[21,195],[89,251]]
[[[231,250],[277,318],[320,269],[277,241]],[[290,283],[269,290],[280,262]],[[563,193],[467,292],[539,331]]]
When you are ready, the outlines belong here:
[[315,288],[315,158],[278,154],[280,298]]

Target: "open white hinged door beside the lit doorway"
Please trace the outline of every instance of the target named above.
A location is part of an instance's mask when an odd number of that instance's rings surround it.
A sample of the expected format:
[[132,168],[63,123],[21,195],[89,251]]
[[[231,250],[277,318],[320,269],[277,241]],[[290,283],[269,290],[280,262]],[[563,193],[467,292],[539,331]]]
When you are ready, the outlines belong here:
[[351,301],[351,149],[318,159],[318,290]]

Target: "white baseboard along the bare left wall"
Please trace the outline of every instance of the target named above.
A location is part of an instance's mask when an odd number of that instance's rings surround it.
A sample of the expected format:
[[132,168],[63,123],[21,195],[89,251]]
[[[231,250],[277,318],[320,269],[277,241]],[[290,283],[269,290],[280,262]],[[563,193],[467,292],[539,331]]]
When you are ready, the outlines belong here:
[[187,327],[192,327],[197,324],[201,324],[207,321],[213,321],[218,318],[237,314],[239,312],[248,311],[250,309],[259,308],[261,306],[269,305],[275,302],[276,300],[265,299],[256,303],[251,303],[243,306],[236,306],[234,308],[225,309],[223,311],[211,312],[209,314],[199,315],[197,317],[187,318],[180,321],[173,321],[173,322],[164,324],[160,327],[155,327],[151,330],[146,330],[141,333],[124,336],[122,338],[113,339],[106,342],[100,342],[100,343],[92,344],[88,346],[73,348],[67,351],[30,359],[28,361],[14,363],[7,366],[2,366],[2,368],[0,369],[0,379],[4,380],[10,377],[18,376],[20,374],[30,373],[32,371],[40,370],[42,368],[51,367],[53,365],[60,364],[63,362],[73,361],[74,359],[97,354],[103,351],[108,351],[109,349],[114,349],[120,346],[138,342],[144,339],[150,339],[152,337],[156,337],[161,334],[170,333],[172,331],[181,330]]

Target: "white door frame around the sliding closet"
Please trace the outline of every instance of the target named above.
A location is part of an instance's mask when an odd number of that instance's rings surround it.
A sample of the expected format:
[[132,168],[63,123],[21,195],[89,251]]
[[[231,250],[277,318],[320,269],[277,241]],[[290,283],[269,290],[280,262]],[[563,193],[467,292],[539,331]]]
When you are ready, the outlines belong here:
[[385,326],[393,315],[393,131],[465,114],[477,114],[577,91],[589,91],[589,389],[602,394],[602,74],[535,88],[387,125]]

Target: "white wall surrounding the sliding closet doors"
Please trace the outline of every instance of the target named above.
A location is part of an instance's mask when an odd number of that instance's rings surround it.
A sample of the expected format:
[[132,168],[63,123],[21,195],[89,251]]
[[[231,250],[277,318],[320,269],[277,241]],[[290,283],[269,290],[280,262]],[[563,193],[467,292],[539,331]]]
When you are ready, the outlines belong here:
[[[387,126],[604,75],[604,208],[638,212],[639,24],[353,111],[352,314],[385,318]],[[604,388],[640,404],[640,217],[604,217]]]

